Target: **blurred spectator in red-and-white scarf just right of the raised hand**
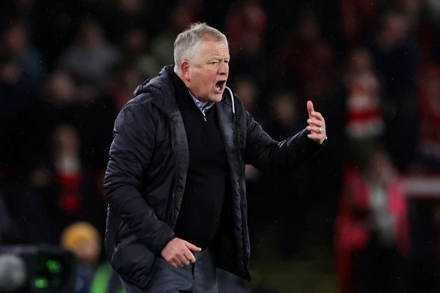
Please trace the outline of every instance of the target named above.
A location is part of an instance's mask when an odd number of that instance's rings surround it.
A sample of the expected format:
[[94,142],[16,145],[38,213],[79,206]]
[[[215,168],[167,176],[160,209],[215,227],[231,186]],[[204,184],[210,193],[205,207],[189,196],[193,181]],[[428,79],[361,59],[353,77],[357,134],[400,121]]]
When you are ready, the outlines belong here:
[[329,159],[335,163],[330,166],[338,174],[347,161],[363,162],[371,151],[381,146],[385,133],[385,95],[369,50],[359,47],[351,51],[342,78],[322,106],[328,117],[328,136],[332,137]]

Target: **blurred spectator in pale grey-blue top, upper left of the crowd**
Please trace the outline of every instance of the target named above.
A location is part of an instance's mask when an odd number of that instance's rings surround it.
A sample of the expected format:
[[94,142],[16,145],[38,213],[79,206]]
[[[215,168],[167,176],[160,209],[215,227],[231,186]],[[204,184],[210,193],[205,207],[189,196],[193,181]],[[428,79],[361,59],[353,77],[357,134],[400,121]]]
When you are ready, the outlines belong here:
[[73,76],[76,82],[87,82],[102,89],[117,55],[117,49],[105,40],[98,22],[85,20],[75,42],[61,55],[58,68]]

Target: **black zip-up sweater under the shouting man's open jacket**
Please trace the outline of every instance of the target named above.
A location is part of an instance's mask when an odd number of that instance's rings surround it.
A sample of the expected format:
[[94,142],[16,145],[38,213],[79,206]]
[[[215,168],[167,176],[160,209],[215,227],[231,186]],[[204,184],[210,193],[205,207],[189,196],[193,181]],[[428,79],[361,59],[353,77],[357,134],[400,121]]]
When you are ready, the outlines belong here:
[[207,248],[217,233],[223,200],[229,190],[228,158],[216,107],[203,117],[177,75],[173,75],[177,105],[184,121],[189,148],[189,168],[175,235]]

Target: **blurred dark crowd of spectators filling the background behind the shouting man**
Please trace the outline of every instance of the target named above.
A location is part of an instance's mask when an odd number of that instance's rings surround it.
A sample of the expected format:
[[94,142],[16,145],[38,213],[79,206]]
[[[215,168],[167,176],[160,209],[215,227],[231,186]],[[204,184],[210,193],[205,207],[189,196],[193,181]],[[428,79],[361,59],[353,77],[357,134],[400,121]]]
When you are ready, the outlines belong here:
[[112,125],[199,21],[228,37],[228,85],[274,140],[306,126],[307,100],[326,119],[328,146],[298,170],[247,166],[252,239],[269,229],[295,260],[324,211],[340,292],[439,292],[439,204],[402,183],[440,174],[437,0],[1,1],[0,244],[59,245],[76,292],[117,292],[101,252]]

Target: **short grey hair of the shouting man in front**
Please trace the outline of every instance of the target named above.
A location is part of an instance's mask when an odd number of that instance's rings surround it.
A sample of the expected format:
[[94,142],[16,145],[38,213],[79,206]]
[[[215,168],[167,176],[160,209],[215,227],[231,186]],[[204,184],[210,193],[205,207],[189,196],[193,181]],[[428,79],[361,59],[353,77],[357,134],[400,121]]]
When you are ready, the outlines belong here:
[[191,24],[189,29],[182,31],[174,42],[174,71],[178,73],[184,60],[191,60],[198,54],[200,40],[214,38],[223,41],[228,46],[228,39],[218,29],[208,26],[205,22]]

